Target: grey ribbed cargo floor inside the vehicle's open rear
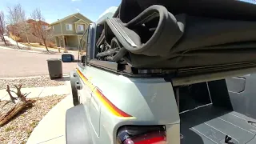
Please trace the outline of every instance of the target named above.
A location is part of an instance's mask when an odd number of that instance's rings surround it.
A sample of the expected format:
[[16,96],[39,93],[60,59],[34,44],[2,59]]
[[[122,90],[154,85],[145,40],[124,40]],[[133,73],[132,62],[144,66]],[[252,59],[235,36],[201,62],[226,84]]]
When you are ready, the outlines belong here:
[[[256,120],[212,105],[180,114],[181,143],[225,144],[226,135],[234,144],[255,143]],[[230,143],[230,144],[233,144]]]

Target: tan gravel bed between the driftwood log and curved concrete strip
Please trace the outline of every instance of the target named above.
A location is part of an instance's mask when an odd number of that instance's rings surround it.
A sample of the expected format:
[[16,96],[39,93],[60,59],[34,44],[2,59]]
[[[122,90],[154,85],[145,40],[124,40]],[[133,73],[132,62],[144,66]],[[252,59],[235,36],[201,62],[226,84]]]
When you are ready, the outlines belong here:
[[[52,95],[45,98],[31,98],[36,100],[33,106],[23,110],[6,125],[0,127],[0,143],[26,143],[38,122],[60,102],[66,95]],[[3,106],[6,101],[0,102]]]

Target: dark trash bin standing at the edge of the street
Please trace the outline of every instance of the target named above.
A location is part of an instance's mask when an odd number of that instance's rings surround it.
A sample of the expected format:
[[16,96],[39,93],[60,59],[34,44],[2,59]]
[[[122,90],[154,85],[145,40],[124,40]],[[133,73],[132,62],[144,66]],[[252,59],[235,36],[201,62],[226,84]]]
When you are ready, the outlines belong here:
[[50,79],[62,78],[62,60],[58,58],[47,59]]

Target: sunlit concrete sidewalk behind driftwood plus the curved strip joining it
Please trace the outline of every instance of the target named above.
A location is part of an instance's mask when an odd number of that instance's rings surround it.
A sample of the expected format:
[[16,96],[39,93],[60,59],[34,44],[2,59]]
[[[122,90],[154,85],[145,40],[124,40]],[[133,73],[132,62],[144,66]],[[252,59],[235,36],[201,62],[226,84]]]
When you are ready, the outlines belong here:
[[[11,89],[14,90],[14,89]],[[66,110],[73,105],[71,95],[70,81],[66,81],[64,86],[47,86],[47,87],[34,87],[22,88],[22,93],[29,93],[27,98],[41,98],[51,96],[53,94],[67,94],[66,98],[58,102],[53,109],[51,109],[38,123],[30,134],[27,144],[66,144]],[[6,90],[0,90],[0,99],[9,100],[10,97]],[[1,142],[0,142],[1,143]]]

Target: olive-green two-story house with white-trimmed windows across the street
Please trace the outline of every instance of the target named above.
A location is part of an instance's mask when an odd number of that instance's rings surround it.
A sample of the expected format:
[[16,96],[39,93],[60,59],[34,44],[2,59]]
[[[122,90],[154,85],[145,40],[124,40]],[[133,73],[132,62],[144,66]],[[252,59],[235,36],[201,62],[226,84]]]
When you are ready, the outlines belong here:
[[67,50],[78,50],[79,39],[82,38],[90,22],[90,19],[76,13],[51,23],[56,45]]

